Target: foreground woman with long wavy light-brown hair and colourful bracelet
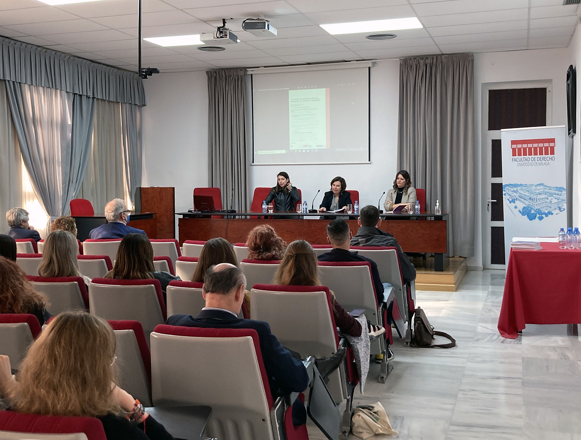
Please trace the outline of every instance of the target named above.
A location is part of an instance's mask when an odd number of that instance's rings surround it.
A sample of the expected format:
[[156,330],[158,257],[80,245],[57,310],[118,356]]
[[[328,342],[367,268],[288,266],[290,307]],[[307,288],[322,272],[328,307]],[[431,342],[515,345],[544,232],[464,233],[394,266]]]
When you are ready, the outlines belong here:
[[62,312],[31,345],[16,377],[8,356],[0,356],[0,392],[16,412],[97,417],[107,440],[173,440],[116,385],[115,348],[107,321],[86,312]]

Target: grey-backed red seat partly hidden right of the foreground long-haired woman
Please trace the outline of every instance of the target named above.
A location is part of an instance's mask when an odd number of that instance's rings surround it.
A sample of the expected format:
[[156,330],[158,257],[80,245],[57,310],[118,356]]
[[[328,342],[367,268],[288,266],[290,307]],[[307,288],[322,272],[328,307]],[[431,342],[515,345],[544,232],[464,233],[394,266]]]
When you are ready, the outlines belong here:
[[144,329],[138,321],[107,321],[115,334],[115,363],[119,369],[119,387],[143,406],[151,402],[151,356]]

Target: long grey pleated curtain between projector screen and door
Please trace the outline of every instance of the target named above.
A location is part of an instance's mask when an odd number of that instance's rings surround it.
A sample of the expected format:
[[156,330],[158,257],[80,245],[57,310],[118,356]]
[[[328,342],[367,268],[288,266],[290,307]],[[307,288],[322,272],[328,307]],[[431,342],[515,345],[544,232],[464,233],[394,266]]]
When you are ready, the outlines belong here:
[[474,55],[400,60],[399,169],[451,211],[451,256],[474,255]]

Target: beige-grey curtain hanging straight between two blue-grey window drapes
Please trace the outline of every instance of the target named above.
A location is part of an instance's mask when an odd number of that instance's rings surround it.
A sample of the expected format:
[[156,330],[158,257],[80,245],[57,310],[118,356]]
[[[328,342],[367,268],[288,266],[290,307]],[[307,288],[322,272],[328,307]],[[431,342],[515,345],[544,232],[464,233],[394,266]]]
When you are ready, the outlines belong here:
[[104,212],[110,200],[125,198],[123,143],[119,102],[97,99],[91,155],[77,197],[91,201],[95,212]]

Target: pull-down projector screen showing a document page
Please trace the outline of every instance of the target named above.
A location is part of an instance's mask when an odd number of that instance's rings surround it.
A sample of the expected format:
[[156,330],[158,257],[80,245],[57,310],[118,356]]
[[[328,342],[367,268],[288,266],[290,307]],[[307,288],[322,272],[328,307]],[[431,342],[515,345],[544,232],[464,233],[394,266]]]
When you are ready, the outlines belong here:
[[253,163],[369,162],[369,69],[253,74]]

